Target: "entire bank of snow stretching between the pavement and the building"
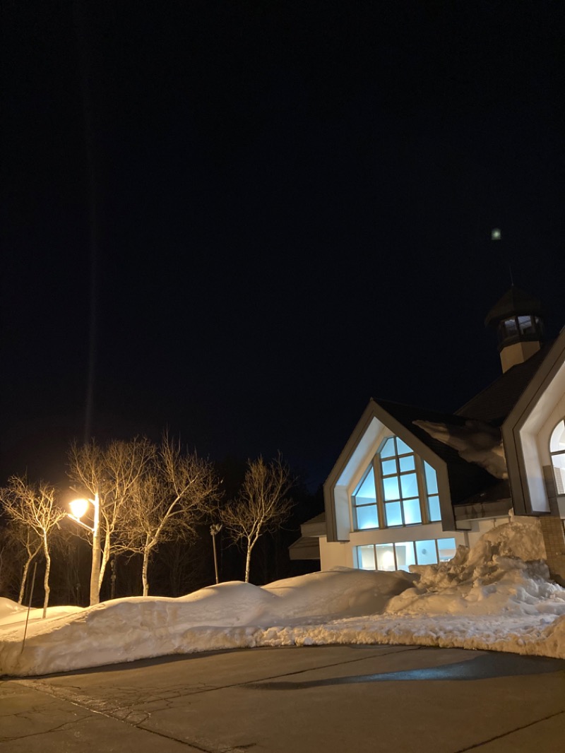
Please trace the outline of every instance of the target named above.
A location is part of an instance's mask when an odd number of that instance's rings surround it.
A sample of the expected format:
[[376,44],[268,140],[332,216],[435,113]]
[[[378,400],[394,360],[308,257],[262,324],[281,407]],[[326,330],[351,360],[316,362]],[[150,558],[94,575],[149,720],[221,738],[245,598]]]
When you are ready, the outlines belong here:
[[[44,675],[224,648],[403,644],[565,658],[565,589],[539,522],[514,518],[470,550],[410,573],[334,569],[268,586],[233,581],[179,599],[41,609],[0,599],[0,674]],[[26,633],[25,645],[23,635]]]

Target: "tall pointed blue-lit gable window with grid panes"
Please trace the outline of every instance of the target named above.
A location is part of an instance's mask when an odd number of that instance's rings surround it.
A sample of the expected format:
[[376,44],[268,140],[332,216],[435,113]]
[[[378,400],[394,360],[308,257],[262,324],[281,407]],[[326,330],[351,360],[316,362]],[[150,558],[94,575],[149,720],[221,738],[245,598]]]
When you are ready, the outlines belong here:
[[351,497],[356,531],[441,520],[438,479],[400,437],[388,437]]

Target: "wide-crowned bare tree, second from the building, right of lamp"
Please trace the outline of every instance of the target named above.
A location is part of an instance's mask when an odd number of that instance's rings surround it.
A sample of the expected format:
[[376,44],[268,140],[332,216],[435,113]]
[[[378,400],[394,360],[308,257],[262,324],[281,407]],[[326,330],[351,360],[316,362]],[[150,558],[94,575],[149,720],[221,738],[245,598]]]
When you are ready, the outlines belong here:
[[195,526],[212,510],[218,480],[212,465],[196,453],[183,454],[167,434],[150,470],[135,485],[126,527],[129,547],[142,553],[143,596],[148,596],[148,566],[163,541],[190,538]]

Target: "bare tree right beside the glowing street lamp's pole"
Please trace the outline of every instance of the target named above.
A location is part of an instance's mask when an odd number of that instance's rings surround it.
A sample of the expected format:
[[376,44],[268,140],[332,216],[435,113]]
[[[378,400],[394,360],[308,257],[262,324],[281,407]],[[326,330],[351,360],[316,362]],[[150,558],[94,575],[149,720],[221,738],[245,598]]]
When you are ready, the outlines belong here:
[[[110,557],[131,551],[127,523],[130,520],[129,507],[134,504],[155,452],[154,444],[145,437],[136,437],[130,442],[112,441],[105,449],[94,441],[80,447],[73,444],[69,451],[69,477],[93,496],[99,508],[102,561],[97,587],[91,584],[91,605],[99,602],[100,587]],[[93,546],[99,546],[96,531]]]

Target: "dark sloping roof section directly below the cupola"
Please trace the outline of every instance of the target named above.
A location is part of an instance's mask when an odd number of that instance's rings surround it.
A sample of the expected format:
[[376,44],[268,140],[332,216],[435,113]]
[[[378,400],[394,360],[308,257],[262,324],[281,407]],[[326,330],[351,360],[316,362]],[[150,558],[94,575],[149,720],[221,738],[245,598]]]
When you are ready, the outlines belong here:
[[455,415],[500,426],[532,381],[549,349],[550,345],[545,344],[523,364],[512,366],[482,392],[456,410]]

